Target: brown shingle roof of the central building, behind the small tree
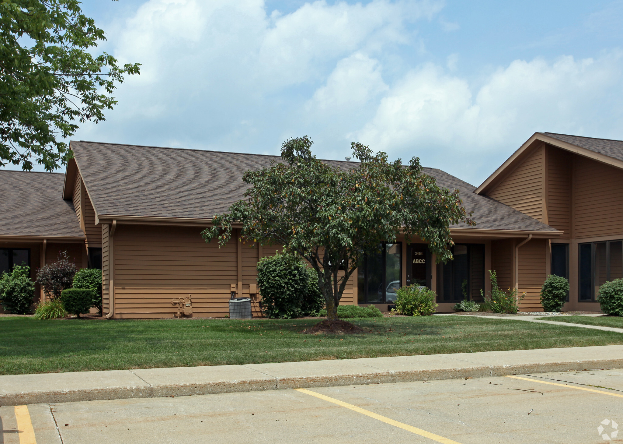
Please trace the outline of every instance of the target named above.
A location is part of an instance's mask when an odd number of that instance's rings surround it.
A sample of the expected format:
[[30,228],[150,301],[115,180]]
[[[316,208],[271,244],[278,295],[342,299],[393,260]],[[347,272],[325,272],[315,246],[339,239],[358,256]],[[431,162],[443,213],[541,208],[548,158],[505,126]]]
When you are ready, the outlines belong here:
[[[242,198],[242,174],[280,162],[278,156],[71,142],[98,215],[211,219]],[[354,162],[327,161],[347,166]],[[480,229],[556,231],[442,170],[426,168],[438,185],[458,188]],[[463,225],[468,228],[466,225]]]

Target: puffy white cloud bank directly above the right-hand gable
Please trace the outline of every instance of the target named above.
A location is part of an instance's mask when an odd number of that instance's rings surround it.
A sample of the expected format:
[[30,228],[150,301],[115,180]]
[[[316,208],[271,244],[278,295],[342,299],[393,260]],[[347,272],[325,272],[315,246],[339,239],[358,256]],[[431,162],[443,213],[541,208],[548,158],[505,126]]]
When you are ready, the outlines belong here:
[[460,170],[482,163],[474,162],[478,153],[508,153],[536,131],[599,127],[603,99],[621,87],[622,70],[621,52],[597,59],[515,60],[473,89],[467,80],[425,64],[393,85],[376,115],[349,137],[390,153],[421,154],[427,163],[473,180],[477,172]]

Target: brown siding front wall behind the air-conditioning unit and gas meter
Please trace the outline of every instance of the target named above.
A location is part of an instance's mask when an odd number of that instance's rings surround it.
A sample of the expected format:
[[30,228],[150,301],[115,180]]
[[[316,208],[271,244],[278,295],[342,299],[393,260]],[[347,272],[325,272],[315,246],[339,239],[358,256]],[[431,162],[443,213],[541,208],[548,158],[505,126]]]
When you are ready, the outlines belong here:
[[[108,226],[103,229],[102,268],[104,304],[107,306]],[[270,256],[277,248],[262,248]],[[115,317],[173,317],[171,299],[192,295],[193,316],[229,314],[230,285],[238,281],[236,240],[219,248],[201,238],[201,228],[118,225],[114,236]],[[257,276],[257,248],[242,245],[242,294]],[[352,282],[350,282],[352,283]],[[352,304],[352,285],[342,302]],[[259,316],[257,298],[252,304]],[[105,310],[107,311],[107,310]]]

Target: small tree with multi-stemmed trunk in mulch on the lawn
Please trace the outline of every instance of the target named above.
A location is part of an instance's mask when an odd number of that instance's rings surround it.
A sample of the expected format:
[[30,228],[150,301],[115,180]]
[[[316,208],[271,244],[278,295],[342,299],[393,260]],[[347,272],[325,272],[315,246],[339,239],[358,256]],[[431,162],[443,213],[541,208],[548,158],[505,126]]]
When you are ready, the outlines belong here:
[[[250,185],[229,214],[214,216],[202,231],[206,242],[224,246],[232,230],[242,225],[240,241],[280,244],[312,265],[325,297],[327,318],[337,321],[337,307],[348,278],[365,253],[378,251],[383,241],[425,239],[439,261],[452,258],[450,224],[473,221],[465,214],[459,191],[435,185],[422,172],[418,158],[408,166],[388,162],[364,145],[353,143],[361,163],[350,168],[322,162],[312,155],[306,136],[283,143],[283,163],[247,171]],[[344,164],[342,164],[344,165]]]

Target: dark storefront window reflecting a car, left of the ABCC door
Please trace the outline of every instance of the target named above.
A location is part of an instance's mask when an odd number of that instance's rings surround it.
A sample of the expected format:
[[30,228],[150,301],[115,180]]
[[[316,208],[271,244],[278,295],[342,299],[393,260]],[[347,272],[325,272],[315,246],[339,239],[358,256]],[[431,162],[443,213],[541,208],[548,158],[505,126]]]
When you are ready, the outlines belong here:
[[358,303],[396,301],[402,285],[402,243],[383,243],[380,251],[369,254],[358,268]]

